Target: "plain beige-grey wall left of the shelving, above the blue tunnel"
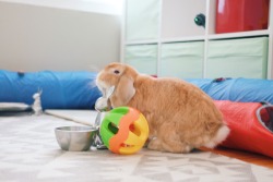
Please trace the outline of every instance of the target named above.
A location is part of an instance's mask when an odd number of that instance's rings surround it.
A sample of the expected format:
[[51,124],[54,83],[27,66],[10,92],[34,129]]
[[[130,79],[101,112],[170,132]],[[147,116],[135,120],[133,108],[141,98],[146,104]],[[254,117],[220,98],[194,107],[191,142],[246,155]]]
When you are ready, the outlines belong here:
[[0,1],[0,70],[100,69],[119,61],[120,24],[115,13]]

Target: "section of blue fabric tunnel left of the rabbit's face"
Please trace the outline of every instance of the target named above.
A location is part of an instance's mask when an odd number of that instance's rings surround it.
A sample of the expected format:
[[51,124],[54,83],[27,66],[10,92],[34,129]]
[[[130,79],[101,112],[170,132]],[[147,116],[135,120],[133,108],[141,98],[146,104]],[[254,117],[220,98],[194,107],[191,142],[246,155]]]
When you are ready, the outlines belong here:
[[0,70],[0,102],[32,105],[43,90],[43,109],[93,109],[100,92],[92,72],[28,72]]

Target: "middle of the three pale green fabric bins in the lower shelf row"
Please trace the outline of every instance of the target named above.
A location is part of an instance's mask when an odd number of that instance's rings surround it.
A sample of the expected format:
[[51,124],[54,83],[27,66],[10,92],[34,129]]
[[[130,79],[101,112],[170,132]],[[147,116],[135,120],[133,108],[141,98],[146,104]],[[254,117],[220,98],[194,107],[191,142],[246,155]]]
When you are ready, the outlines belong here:
[[161,76],[201,78],[203,60],[203,41],[163,44]]

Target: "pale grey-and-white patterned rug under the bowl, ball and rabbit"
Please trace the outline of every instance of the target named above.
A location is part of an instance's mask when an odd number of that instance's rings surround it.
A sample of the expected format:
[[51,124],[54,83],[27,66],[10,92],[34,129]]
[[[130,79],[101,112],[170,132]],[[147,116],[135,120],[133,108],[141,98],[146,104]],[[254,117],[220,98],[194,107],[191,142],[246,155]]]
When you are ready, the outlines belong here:
[[54,129],[76,123],[51,116],[0,117],[1,182],[271,182],[273,170],[211,151],[170,154],[142,149],[64,151]]

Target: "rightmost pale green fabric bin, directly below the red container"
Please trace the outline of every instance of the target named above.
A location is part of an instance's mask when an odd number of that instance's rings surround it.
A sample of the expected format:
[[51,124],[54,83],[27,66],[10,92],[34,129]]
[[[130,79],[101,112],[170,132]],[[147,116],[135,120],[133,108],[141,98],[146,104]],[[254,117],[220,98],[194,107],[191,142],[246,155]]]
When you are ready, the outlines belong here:
[[209,41],[206,77],[266,78],[268,37]]

